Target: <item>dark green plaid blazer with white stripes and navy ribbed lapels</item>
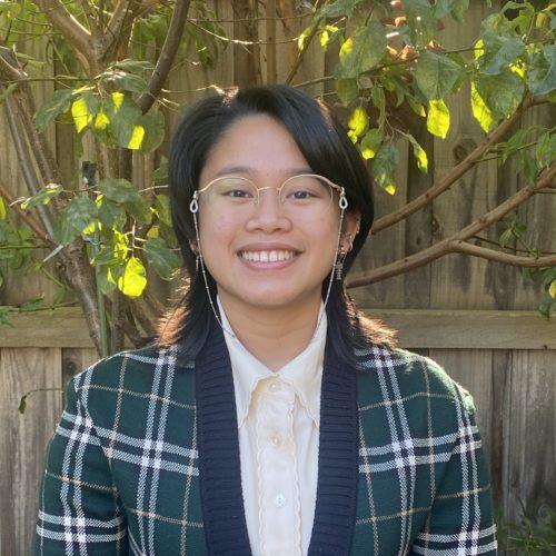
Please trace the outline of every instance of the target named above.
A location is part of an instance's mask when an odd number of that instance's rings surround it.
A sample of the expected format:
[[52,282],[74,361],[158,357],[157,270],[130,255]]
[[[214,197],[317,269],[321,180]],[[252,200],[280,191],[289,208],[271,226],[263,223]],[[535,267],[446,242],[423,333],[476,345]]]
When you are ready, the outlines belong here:
[[[325,349],[309,555],[496,554],[467,391],[433,360]],[[102,359],[67,386],[39,493],[36,554],[249,555],[230,360],[214,326]],[[288,555],[284,555],[288,556]]]

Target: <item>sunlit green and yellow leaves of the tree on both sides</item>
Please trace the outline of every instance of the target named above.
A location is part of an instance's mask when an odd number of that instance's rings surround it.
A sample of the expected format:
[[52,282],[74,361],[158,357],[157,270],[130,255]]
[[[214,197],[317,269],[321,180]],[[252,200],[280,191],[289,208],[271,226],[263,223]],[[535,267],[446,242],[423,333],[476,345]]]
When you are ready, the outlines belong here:
[[[29,34],[47,41],[47,61],[14,49],[26,75],[48,79],[53,63],[63,68],[56,77],[56,90],[33,115],[34,126],[39,132],[48,132],[54,125],[71,127],[80,160],[91,145],[97,156],[103,156],[97,159],[97,173],[76,171],[71,182],[47,182],[36,195],[18,199],[14,206],[39,220],[41,211],[52,214],[51,258],[76,242],[86,246],[99,295],[121,292],[128,299],[140,298],[153,275],[173,280],[180,266],[166,195],[166,160],[160,159],[168,130],[165,113],[176,105],[163,92],[156,95],[152,108],[145,110],[142,103],[150,95],[158,61],[149,57],[165,44],[173,6],[155,2],[150,9],[136,13],[128,26],[126,48],[97,57],[98,71],[91,75],[87,60],[60,34],[56,21],[37,10],[38,3],[0,2],[3,46],[16,47]],[[64,2],[76,20],[95,30],[83,12],[85,4],[98,9],[96,2]],[[99,28],[106,27],[107,14],[115,12],[117,2],[102,6],[106,13],[97,12]],[[396,193],[399,145],[408,141],[418,169],[427,172],[430,153],[410,130],[416,121],[423,121],[433,136],[448,137],[451,98],[458,91],[467,91],[473,115],[485,133],[493,133],[527,99],[556,99],[554,3],[506,2],[500,11],[483,21],[474,44],[458,51],[441,46],[441,29],[464,22],[468,0],[330,0],[316,6],[309,27],[297,38],[299,53],[302,56],[314,38],[324,50],[337,53],[331,78],[337,100],[349,115],[349,138],[370,161],[377,186],[390,195]],[[206,2],[195,0],[179,37],[173,67],[214,67],[228,43],[216,14]],[[16,98],[18,82],[1,75],[0,78],[0,102]],[[549,127],[519,129],[495,143],[485,158],[494,156],[500,165],[510,165],[513,171],[534,183],[543,170],[554,165],[555,137]],[[132,152],[136,159],[151,157],[160,161],[153,176],[142,185],[135,183],[131,173],[121,170]],[[101,159],[123,162],[102,166]],[[57,302],[61,302],[67,280],[49,272],[46,260],[34,256],[36,249],[44,245],[26,225],[16,224],[14,206],[8,207],[0,196],[0,272],[7,265],[43,271],[57,281]],[[519,244],[527,256],[543,256],[527,244],[526,232],[516,219],[505,221],[500,248]],[[540,309],[547,316],[556,304],[555,272],[554,267],[525,270],[527,277],[539,284]],[[0,285],[1,280],[0,274]],[[4,312],[0,312],[0,320],[6,320]]]

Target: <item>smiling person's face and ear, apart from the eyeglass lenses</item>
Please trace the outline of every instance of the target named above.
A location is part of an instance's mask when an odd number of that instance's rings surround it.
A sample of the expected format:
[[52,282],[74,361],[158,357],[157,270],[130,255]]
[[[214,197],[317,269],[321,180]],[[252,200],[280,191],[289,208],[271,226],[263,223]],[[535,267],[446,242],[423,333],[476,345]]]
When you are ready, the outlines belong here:
[[[266,115],[249,116],[234,122],[209,152],[199,189],[222,175],[278,188],[299,173],[312,171],[287,129]],[[337,195],[317,219],[285,210],[274,189],[260,191],[259,203],[247,210],[216,210],[207,199],[200,195],[200,247],[220,297],[257,307],[320,298],[338,239]],[[355,236],[357,217],[346,211],[345,220],[346,234]]]

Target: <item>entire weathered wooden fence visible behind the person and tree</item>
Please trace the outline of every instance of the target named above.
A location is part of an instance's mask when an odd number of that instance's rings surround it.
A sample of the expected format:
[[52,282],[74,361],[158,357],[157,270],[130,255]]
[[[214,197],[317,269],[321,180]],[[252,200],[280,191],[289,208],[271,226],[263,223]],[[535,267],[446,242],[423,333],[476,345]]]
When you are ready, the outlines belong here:
[[[229,0],[208,3],[226,20],[222,27],[229,37],[239,32],[229,22],[234,16]],[[287,13],[295,14],[294,0],[281,3],[289,7]],[[494,0],[488,8],[483,0],[471,0],[465,26],[450,24],[444,31],[445,47],[469,47],[480,21],[499,3]],[[272,72],[278,81],[291,62],[292,50],[282,41],[295,38],[308,23],[307,19],[288,21],[288,27],[276,27],[278,56]],[[267,31],[261,20],[262,41]],[[40,57],[46,48],[28,41],[20,50]],[[244,47],[230,44],[212,69],[180,67],[171,75],[168,88],[172,92],[168,95],[176,102],[188,103],[206,93],[198,89],[232,85],[242,52]],[[270,69],[262,49],[259,56],[265,77]],[[330,75],[335,62],[334,56],[311,47],[296,81]],[[329,86],[317,83],[306,90],[329,99],[334,98],[328,97]],[[40,103],[51,92],[52,82],[33,82],[32,87]],[[414,130],[428,153],[429,173],[419,172],[408,146],[399,143],[398,190],[395,196],[376,191],[377,217],[430,188],[483,141],[470,112],[468,88],[448,106],[451,128],[446,140],[433,138],[423,127]],[[172,126],[177,113],[168,111],[167,116]],[[554,126],[554,120],[549,109],[536,108],[516,129],[536,122]],[[49,133],[69,180],[75,172],[71,137],[62,126],[51,127]],[[0,137],[9,137],[1,113]],[[0,181],[14,196],[27,195],[9,141],[0,142]],[[153,158],[135,157],[133,162],[136,181],[143,187],[150,182]],[[369,238],[353,272],[391,262],[444,239],[523,186],[509,165],[477,165],[431,205]],[[519,219],[529,226],[527,240],[544,251],[556,251],[555,215],[553,195],[536,196],[519,208]],[[500,227],[495,226],[483,237],[496,241],[499,234]],[[17,305],[41,295],[49,302],[54,291],[40,276],[23,278],[12,272],[0,288],[0,305]],[[514,268],[450,255],[351,292],[370,315],[399,329],[404,347],[433,357],[471,391],[492,463],[495,502],[506,517],[519,520],[526,514],[535,518],[547,507],[556,508],[556,325],[536,312],[537,287]],[[29,553],[44,447],[62,409],[59,389],[97,359],[78,309],[21,315],[13,320],[14,328],[0,328],[0,556]],[[26,413],[18,413],[20,397],[38,388],[53,390],[32,394]]]

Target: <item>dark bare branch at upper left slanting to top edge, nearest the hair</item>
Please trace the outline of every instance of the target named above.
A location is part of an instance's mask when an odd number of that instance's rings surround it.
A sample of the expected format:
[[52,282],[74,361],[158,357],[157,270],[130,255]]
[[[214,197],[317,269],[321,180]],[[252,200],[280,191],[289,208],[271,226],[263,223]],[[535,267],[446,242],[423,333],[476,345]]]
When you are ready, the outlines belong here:
[[170,68],[173,64],[181,37],[183,36],[183,27],[189,11],[189,3],[190,0],[178,0],[176,3],[170,27],[168,28],[168,34],[166,36],[162,50],[158,57],[152,76],[150,77],[149,92],[141,95],[137,101],[143,113],[150,110],[155,100],[160,95],[166,78],[168,77]]

